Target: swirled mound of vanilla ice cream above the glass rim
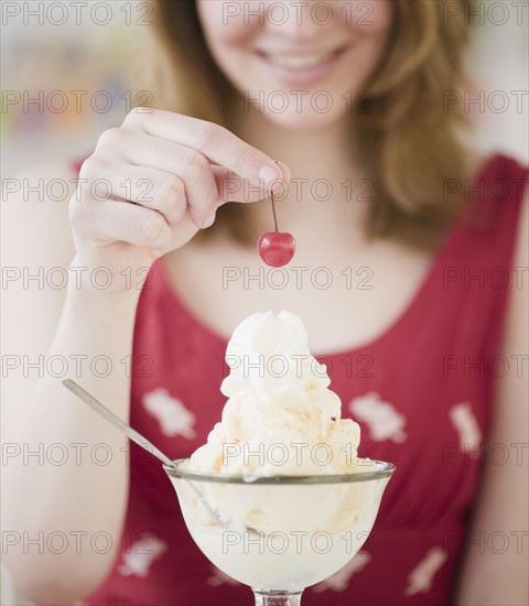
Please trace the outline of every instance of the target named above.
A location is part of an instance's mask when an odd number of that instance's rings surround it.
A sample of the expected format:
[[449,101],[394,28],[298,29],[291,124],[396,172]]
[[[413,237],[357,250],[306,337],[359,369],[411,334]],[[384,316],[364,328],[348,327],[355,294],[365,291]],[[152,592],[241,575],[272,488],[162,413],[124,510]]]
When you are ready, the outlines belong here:
[[295,314],[247,317],[234,332],[226,362],[222,421],[192,455],[190,469],[245,476],[363,470],[359,426],[341,419],[339,398]]

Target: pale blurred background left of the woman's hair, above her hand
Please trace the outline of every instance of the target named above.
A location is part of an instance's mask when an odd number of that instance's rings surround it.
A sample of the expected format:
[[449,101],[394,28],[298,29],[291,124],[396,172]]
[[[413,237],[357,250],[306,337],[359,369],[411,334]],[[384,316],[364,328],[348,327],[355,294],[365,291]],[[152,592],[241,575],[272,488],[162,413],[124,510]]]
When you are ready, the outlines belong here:
[[133,6],[147,3],[84,3],[79,14],[71,2],[1,3],[3,177],[90,151],[130,107],[129,56],[141,32]]

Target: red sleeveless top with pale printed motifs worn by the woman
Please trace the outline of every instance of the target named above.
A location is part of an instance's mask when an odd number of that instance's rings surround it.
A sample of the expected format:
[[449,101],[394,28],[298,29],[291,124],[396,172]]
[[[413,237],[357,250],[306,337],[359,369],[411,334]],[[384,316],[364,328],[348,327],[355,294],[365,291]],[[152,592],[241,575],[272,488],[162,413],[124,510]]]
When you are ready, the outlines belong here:
[[[397,465],[360,552],[303,594],[311,605],[447,605],[490,423],[512,242],[527,171],[494,156],[473,193],[472,221],[450,229],[411,304],[371,343],[319,359],[360,456]],[[477,219],[477,220],[474,220]],[[226,342],[201,324],[154,263],[138,307],[131,424],[170,456],[188,456],[220,419]],[[242,320],[242,318],[241,318]],[[481,456],[479,456],[481,453]],[[495,455],[495,458],[500,453]],[[248,606],[250,589],[192,541],[161,466],[131,446],[130,495],[114,570],[96,605]]]

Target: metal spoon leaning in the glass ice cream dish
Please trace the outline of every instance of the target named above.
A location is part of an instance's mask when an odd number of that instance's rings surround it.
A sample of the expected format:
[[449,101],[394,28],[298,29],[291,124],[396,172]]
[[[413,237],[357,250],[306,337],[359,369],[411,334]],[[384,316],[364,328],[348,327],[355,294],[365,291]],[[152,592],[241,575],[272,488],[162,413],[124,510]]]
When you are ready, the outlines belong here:
[[[132,442],[136,442],[139,446],[144,448],[148,453],[151,453],[156,458],[159,458],[162,463],[168,465],[169,467],[173,467],[173,469],[177,469],[179,467],[169,458],[168,455],[163,454],[160,448],[156,448],[152,442],[147,440],[147,437],[143,437],[141,433],[138,433],[136,430],[133,430],[130,425],[121,421],[114,412],[108,410],[107,407],[101,404],[94,396],[90,396],[88,391],[83,389],[78,383],[73,381],[72,379],[65,379],[63,381],[63,385],[69,389],[73,393],[77,396],[85,404],[88,404],[93,410],[95,410],[98,414],[100,414],[104,419],[106,419],[109,423],[111,423],[115,428],[117,428],[120,432],[125,433],[127,437],[132,440]],[[215,522],[225,528],[228,529],[229,527],[222,520],[220,513],[214,509],[207,500],[204,498],[204,495],[201,493],[201,490],[192,483],[188,481],[190,486],[195,491],[196,496],[198,497],[199,501],[207,508],[209,511],[212,518],[215,520]]]

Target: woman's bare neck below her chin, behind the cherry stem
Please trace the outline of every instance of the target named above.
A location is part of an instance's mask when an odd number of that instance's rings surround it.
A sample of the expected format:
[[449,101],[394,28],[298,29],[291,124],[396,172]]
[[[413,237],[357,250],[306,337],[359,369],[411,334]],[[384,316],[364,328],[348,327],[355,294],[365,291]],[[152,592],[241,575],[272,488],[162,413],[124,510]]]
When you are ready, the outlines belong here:
[[[238,137],[291,171],[287,192],[277,197],[280,231],[314,237],[317,225],[319,232],[335,241],[361,239],[366,208],[358,199],[361,174],[347,118],[319,129],[287,129],[262,113],[249,112],[237,121],[236,128],[230,127]],[[273,229],[269,204],[252,204],[248,215],[257,231]]]

